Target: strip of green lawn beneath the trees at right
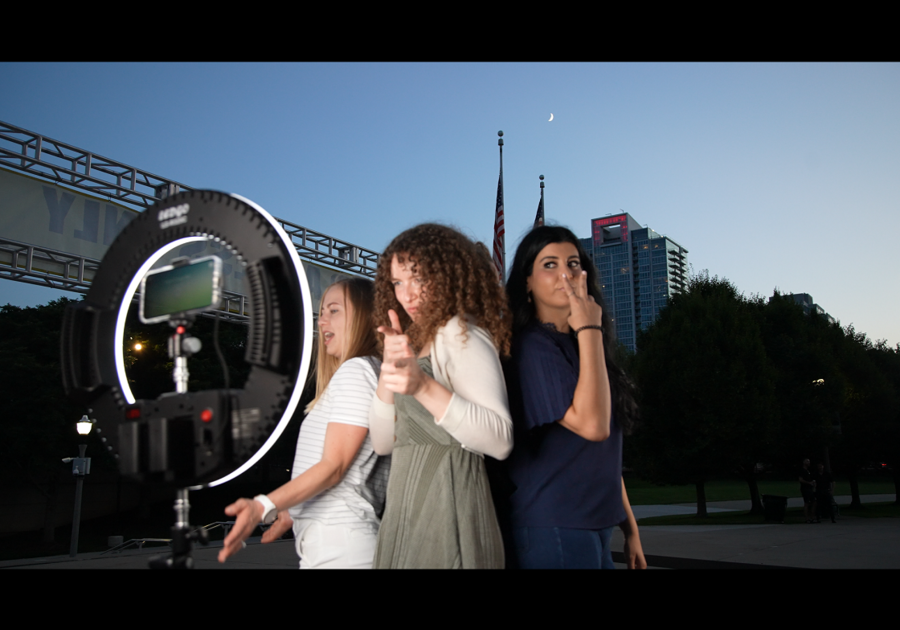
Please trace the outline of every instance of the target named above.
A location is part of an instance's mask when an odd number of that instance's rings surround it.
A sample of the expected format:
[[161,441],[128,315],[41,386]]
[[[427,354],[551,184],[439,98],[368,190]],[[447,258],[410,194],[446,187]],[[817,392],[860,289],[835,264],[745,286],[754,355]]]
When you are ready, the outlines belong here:
[[[673,503],[696,503],[697,489],[693,485],[657,486],[638,477],[625,477],[628,500],[632,505],[670,505]],[[800,484],[796,479],[759,480],[760,494],[775,494],[783,497],[799,497]],[[894,482],[887,477],[861,477],[860,494],[894,494]],[[836,496],[850,495],[850,483],[839,478],[835,481]],[[741,479],[720,479],[706,483],[707,501],[735,501],[750,499],[750,489]]]

